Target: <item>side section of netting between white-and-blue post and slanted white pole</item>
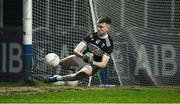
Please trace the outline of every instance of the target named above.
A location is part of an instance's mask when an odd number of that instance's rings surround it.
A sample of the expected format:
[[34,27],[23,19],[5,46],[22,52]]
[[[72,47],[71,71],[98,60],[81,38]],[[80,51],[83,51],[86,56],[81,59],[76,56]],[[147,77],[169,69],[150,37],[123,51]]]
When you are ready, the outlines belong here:
[[[74,47],[92,32],[91,20],[88,0],[33,0],[33,76],[43,80],[46,76],[74,73],[48,68],[44,57],[56,53],[62,59],[73,54]],[[88,82],[85,80],[83,84]]]

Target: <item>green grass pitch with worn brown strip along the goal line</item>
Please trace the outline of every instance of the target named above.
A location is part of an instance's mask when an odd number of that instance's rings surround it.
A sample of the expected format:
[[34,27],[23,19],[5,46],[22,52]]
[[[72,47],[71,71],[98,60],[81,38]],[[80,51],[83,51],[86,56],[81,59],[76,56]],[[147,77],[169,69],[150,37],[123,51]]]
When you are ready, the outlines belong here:
[[0,103],[180,103],[180,87],[0,85]]

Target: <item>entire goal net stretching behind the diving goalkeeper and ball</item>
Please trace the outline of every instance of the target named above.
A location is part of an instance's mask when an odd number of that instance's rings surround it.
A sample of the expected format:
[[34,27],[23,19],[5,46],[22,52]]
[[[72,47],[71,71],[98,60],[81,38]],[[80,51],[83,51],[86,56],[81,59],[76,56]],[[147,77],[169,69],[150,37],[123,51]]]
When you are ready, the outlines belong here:
[[[74,73],[48,68],[44,56],[73,54],[74,47],[94,31],[93,21],[108,16],[115,45],[107,69],[109,84],[179,85],[179,11],[179,0],[33,0],[32,75],[42,80]],[[101,80],[97,74],[91,83]],[[83,79],[79,85],[88,82]]]

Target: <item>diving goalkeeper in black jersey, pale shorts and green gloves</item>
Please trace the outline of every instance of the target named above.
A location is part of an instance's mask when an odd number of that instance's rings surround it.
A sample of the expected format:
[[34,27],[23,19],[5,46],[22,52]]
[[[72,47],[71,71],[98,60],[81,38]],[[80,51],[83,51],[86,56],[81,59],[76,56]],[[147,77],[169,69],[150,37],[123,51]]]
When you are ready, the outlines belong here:
[[[83,60],[84,65],[74,74],[65,76],[54,75],[45,79],[45,82],[56,81],[74,81],[89,77],[98,70],[106,68],[111,53],[113,52],[113,40],[108,31],[110,29],[111,19],[102,17],[98,21],[95,33],[85,37],[74,49],[74,56]],[[60,66],[69,66],[72,57],[66,57],[59,63]]]

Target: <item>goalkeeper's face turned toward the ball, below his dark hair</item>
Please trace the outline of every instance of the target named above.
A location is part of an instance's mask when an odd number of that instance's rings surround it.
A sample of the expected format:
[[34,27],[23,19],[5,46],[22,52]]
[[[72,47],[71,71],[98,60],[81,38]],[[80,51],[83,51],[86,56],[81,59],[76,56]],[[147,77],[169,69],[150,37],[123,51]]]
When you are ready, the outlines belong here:
[[100,36],[105,35],[109,31],[109,25],[106,23],[98,24],[98,34]]

